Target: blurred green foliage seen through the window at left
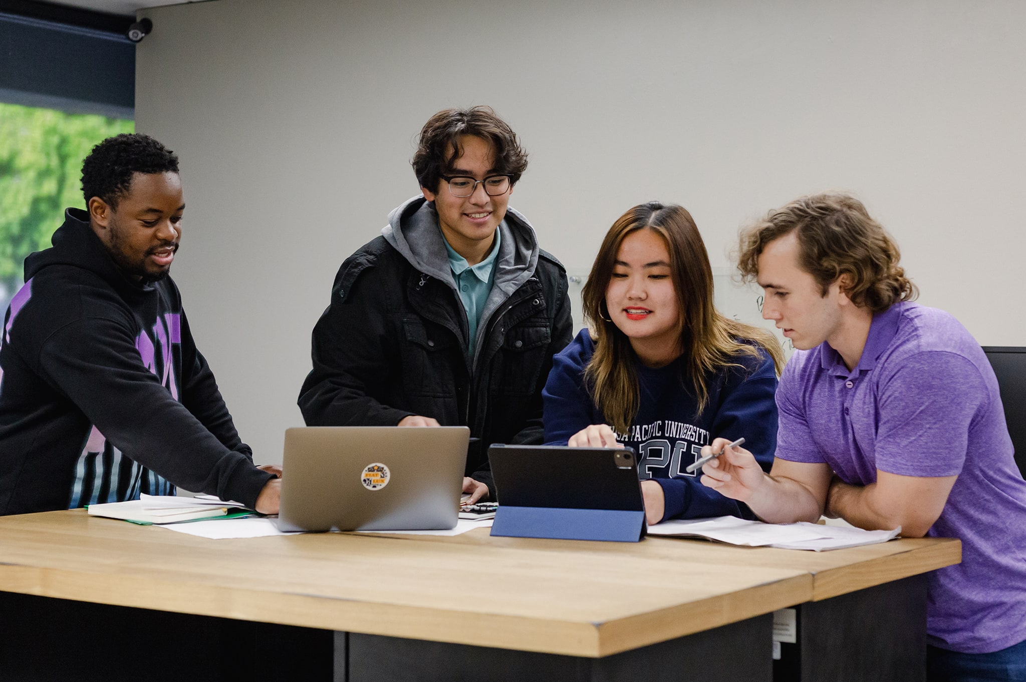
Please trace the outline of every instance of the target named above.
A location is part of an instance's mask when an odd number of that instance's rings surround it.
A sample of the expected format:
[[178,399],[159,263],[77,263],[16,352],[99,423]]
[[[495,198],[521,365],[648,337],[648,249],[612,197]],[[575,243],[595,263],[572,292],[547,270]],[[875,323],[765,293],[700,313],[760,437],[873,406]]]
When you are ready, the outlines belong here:
[[50,245],[64,209],[85,208],[89,151],[134,128],[134,121],[0,103],[0,299],[22,285],[25,256]]

